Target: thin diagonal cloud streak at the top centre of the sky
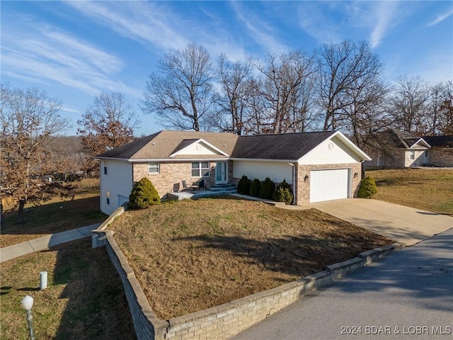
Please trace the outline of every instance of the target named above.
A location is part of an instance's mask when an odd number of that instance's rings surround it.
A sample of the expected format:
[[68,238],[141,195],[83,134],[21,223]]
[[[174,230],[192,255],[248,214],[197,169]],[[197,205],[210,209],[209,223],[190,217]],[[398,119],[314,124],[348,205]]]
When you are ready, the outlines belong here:
[[287,52],[289,48],[282,44],[278,38],[277,29],[263,21],[259,16],[251,11],[247,11],[240,2],[231,1],[236,18],[245,26],[248,35],[261,45],[268,52]]

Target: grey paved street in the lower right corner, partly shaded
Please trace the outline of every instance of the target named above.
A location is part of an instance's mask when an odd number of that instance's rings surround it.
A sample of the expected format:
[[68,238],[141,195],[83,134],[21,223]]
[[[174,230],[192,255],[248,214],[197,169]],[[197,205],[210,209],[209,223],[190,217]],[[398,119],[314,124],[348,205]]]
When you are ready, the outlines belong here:
[[453,339],[453,229],[355,271],[234,339]]

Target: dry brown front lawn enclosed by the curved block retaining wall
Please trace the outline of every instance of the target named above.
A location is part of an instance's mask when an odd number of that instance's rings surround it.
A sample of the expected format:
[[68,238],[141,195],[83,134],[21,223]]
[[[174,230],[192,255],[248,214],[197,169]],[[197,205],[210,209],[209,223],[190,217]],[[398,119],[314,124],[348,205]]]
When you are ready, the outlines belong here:
[[235,198],[127,211],[111,228],[161,319],[267,290],[392,243],[317,210]]

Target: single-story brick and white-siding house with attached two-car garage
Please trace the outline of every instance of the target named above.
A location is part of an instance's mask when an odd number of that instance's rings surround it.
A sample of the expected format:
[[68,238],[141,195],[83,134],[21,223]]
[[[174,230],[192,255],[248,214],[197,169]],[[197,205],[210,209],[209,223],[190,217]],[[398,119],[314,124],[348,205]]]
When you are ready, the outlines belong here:
[[361,163],[370,158],[338,131],[238,136],[223,132],[157,132],[116,147],[101,161],[101,210],[111,214],[128,200],[134,182],[147,177],[164,198],[182,181],[207,188],[241,176],[292,184],[294,203],[352,198]]

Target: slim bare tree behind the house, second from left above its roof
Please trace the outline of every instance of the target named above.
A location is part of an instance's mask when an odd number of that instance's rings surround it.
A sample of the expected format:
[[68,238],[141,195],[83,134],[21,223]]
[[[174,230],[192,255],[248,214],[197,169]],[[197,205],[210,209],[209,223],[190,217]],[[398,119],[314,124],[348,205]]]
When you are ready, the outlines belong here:
[[214,95],[218,111],[210,118],[214,128],[242,135],[249,119],[253,91],[253,64],[251,58],[244,62],[229,62],[226,55],[219,57],[220,91]]

